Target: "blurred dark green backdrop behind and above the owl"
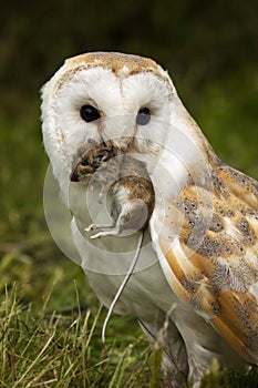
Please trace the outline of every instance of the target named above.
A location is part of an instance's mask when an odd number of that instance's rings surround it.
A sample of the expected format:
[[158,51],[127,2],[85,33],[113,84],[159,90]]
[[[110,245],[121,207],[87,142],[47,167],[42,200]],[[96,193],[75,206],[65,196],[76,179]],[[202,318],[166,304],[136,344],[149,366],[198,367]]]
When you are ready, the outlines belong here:
[[0,290],[17,280],[25,300],[39,302],[55,279],[64,287],[53,304],[64,308],[81,276],[52,242],[42,208],[40,88],[68,57],[153,58],[218,155],[258,178],[256,0],[9,0],[0,13]]

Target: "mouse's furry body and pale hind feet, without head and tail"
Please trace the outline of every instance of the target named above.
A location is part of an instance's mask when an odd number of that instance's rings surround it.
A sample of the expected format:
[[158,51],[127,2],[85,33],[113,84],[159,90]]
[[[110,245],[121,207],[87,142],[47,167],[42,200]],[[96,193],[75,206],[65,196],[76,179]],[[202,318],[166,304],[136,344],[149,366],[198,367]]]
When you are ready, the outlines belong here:
[[104,194],[112,197],[112,221],[104,225],[89,225],[86,232],[102,229],[91,238],[121,235],[124,231],[142,231],[146,227],[153,213],[155,194],[144,162],[130,155],[118,155],[100,167],[93,176],[93,185],[94,182],[101,182],[102,185],[99,202],[102,202]]

